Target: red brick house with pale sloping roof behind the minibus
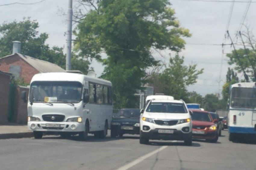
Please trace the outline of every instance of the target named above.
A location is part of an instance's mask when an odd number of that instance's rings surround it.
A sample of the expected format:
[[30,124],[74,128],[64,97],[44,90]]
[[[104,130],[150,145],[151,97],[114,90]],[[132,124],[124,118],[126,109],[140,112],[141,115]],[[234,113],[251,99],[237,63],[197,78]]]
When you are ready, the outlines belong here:
[[19,53],[0,58],[0,70],[12,73],[16,79],[22,78],[28,84],[37,73],[65,71],[56,64]]

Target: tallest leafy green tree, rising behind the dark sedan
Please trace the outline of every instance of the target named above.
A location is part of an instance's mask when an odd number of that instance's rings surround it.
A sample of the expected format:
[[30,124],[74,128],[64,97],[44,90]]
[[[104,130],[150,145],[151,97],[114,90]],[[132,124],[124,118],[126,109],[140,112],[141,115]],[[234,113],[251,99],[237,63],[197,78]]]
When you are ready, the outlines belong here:
[[[75,48],[105,66],[102,78],[113,84],[115,107],[133,107],[146,69],[158,64],[151,48],[179,52],[189,31],[180,27],[168,0],[97,1],[94,7],[74,32]],[[108,57],[101,59],[101,52]]]

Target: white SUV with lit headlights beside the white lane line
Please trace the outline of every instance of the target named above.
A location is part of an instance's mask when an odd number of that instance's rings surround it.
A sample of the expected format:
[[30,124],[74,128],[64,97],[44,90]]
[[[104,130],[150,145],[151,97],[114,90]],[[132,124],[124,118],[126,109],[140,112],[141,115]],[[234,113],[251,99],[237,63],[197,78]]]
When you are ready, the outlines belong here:
[[180,100],[151,100],[141,110],[140,144],[152,140],[181,140],[192,145],[192,112]]

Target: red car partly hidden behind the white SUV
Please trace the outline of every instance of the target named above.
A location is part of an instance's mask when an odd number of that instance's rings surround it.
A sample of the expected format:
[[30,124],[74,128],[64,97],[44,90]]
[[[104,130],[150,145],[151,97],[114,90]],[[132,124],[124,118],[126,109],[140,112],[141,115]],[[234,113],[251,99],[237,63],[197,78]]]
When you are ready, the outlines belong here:
[[217,127],[211,114],[207,111],[190,109],[192,115],[192,138],[206,139],[206,141],[216,143],[219,139]]

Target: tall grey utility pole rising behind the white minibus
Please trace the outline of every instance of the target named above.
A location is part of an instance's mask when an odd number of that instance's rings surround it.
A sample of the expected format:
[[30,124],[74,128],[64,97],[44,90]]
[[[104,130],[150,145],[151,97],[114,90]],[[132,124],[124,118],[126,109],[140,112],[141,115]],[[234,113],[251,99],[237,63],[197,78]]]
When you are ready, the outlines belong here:
[[67,56],[66,56],[66,70],[71,70],[71,38],[72,38],[72,0],[68,2],[67,11]]

